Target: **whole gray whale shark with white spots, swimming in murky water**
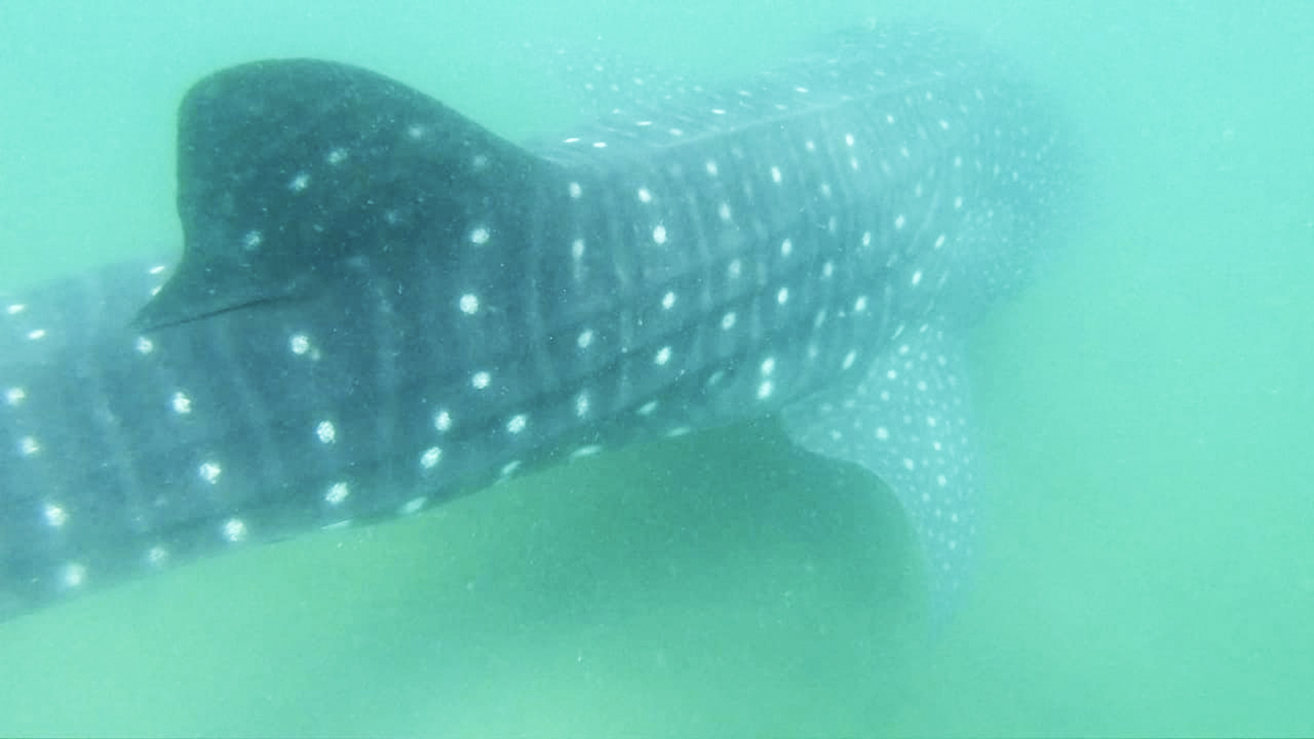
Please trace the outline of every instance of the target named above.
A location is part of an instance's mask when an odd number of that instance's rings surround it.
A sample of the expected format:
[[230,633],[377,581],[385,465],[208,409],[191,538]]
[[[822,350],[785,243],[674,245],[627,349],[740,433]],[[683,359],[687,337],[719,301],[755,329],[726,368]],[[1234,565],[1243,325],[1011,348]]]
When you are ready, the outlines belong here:
[[527,147],[344,64],[200,82],[176,268],[0,302],[0,614],[770,414],[883,477],[957,592],[955,337],[1070,189],[1014,76],[859,32]]

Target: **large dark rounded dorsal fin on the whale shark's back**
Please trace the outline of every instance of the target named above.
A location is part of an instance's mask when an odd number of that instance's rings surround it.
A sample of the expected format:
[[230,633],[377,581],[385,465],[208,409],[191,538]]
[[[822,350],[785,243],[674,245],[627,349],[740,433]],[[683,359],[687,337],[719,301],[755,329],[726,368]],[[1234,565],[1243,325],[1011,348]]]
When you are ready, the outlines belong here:
[[179,110],[183,260],[137,325],[307,297],[344,260],[402,256],[418,234],[461,226],[535,164],[367,70],[289,59],[217,72]]

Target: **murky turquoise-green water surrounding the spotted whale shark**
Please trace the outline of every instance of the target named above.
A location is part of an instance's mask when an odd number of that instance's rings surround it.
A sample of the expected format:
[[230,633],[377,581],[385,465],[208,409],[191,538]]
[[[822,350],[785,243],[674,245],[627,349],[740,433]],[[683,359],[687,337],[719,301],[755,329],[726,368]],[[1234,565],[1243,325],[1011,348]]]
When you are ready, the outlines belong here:
[[[351,60],[514,135],[556,109],[522,39],[723,76],[907,14],[124,5],[0,20],[0,284],[173,247],[173,108],[223,64]],[[924,7],[1089,160],[1067,258],[974,338],[991,505],[942,631],[892,504],[756,425],[3,623],[0,735],[1314,732],[1314,5]]]

